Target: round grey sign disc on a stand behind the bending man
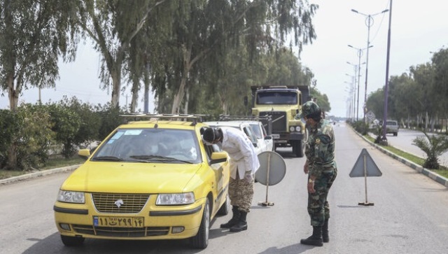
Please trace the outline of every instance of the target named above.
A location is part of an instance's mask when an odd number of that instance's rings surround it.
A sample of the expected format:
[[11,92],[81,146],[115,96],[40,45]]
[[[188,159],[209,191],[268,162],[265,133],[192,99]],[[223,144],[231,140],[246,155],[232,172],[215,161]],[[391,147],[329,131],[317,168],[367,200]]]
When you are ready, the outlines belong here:
[[255,180],[262,185],[268,185],[268,170],[269,170],[269,185],[276,185],[283,180],[286,174],[286,163],[283,157],[278,153],[265,151],[258,155],[260,161],[260,168],[255,173]]

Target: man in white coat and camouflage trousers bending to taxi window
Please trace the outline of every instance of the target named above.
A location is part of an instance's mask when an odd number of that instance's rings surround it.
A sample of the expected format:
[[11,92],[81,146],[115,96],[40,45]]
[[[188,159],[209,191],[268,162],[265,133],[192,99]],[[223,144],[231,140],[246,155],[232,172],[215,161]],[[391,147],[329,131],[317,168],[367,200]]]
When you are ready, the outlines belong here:
[[208,143],[220,143],[230,157],[229,197],[232,218],[221,228],[231,232],[247,230],[247,213],[251,209],[255,172],[260,167],[252,142],[244,132],[234,128],[206,128],[202,139]]

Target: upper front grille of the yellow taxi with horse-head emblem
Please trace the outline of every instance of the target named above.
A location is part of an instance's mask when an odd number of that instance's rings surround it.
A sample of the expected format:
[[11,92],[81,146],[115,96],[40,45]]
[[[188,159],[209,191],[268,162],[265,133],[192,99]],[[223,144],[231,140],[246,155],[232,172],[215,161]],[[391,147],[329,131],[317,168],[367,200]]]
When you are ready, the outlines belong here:
[[101,213],[139,213],[148,199],[149,194],[92,193],[95,209]]

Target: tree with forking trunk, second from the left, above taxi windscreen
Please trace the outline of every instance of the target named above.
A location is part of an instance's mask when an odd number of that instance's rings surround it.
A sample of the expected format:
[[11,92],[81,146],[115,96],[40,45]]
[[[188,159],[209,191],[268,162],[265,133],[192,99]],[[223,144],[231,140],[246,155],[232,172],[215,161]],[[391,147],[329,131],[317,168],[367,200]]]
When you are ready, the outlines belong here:
[[132,39],[146,24],[148,15],[166,0],[115,1],[86,0],[83,3],[80,26],[83,36],[94,41],[102,55],[100,76],[104,88],[112,86],[112,106],[120,101],[123,62]]

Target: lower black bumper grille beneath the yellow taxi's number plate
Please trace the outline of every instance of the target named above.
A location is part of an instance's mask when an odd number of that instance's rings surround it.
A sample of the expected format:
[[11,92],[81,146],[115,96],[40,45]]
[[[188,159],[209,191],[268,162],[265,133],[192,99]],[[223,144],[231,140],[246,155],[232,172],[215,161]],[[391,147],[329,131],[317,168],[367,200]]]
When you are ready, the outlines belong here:
[[71,225],[79,234],[92,234],[104,237],[157,237],[169,233],[169,227],[92,227]]

